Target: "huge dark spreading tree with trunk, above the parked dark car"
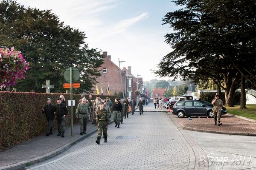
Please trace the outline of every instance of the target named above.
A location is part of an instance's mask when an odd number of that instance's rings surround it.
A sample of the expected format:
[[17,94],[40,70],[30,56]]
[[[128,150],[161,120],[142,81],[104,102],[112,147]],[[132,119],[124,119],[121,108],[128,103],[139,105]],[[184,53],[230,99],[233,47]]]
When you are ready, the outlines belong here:
[[240,74],[244,72],[247,79],[255,75],[255,0],[173,2],[183,7],[163,19],[175,31],[165,36],[173,51],[163,57],[155,74],[195,82],[212,80],[225,90],[226,106],[233,106]]

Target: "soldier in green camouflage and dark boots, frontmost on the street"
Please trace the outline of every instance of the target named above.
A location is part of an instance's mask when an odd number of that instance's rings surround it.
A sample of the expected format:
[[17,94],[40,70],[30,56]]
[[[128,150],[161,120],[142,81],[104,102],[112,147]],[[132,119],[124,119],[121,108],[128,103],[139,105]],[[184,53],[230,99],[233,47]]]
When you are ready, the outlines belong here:
[[99,144],[99,141],[102,136],[102,130],[104,136],[104,142],[108,142],[108,124],[110,123],[110,118],[108,115],[108,111],[104,108],[104,102],[99,102],[99,110],[96,111],[96,122],[98,123],[98,136],[96,143]]

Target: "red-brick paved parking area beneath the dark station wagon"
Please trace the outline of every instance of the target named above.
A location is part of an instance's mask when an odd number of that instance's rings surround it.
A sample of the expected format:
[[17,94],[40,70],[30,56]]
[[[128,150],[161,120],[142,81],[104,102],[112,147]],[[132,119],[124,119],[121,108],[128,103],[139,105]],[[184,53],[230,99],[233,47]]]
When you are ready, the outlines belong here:
[[170,115],[177,123],[185,127],[196,128],[200,130],[212,130],[218,132],[227,132],[227,133],[255,133],[250,135],[256,135],[256,122],[247,121],[244,119],[223,115],[221,116],[221,126],[214,125],[213,118],[207,118],[207,116],[192,116],[192,120],[189,120],[188,117],[179,118],[177,115],[173,115],[170,112]]

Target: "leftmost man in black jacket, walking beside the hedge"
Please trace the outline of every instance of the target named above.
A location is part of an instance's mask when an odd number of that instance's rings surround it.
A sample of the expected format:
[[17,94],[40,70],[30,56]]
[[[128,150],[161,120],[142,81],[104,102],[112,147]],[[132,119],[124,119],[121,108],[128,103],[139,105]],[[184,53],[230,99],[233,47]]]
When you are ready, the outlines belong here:
[[47,126],[47,133],[46,136],[49,136],[52,134],[52,122],[55,118],[55,114],[53,112],[54,110],[54,105],[52,105],[52,99],[48,98],[46,99],[47,105],[42,108],[42,113],[45,113],[46,119],[48,121],[48,126]]

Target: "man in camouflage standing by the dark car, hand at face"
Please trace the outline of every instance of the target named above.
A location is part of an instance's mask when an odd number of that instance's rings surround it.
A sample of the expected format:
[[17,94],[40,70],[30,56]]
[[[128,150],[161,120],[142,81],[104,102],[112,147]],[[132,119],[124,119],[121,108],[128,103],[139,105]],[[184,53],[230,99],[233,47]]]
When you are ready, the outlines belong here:
[[216,94],[214,100],[212,100],[212,105],[213,105],[213,116],[214,116],[214,121],[215,124],[217,125],[218,121],[218,126],[222,125],[221,123],[221,108],[223,107],[223,102],[221,99],[219,99],[219,95]]

